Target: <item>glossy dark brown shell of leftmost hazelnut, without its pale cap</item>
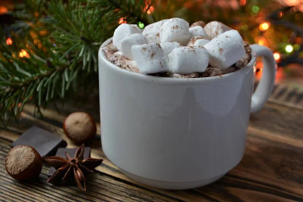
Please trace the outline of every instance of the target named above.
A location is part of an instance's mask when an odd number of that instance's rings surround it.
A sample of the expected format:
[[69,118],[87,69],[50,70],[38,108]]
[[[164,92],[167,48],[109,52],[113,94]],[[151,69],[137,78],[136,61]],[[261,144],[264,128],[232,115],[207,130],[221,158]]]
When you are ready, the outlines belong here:
[[[8,156],[11,153],[11,151],[13,149],[15,149],[16,147],[19,147],[19,146],[30,147],[33,150],[34,154],[35,154],[35,158],[34,158],[33,162],[26,169],[24,169],[23,171],[19,172],[18,174],[12,174],[12,173],[10,173],[8,171],[7,160],[8,160]],[[7,173],[12,178],[14,178],[16,180],[19,180],[19,181],[31,180],[31,179],[37,178],[40,175],[41,170],[42,170],[42,158],[39,155],[38,151],[35,148],[33,148],[32,146],[29,146],[29,145],[17,145],[15,147],[11,148],[11,150],[9,151],[9,153],[8,153],[6,159],[5,159],[5,168],[6,168]]]

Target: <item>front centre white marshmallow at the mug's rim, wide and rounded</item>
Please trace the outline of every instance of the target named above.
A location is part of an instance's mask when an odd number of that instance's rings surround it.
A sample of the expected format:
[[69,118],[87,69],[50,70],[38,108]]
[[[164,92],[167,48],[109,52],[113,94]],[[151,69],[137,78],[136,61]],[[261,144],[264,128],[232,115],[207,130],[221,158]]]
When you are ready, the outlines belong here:
[[177,74],[204,72],[209,64],[207,50],[200,46],[177,47],[168,57],[170,71]]

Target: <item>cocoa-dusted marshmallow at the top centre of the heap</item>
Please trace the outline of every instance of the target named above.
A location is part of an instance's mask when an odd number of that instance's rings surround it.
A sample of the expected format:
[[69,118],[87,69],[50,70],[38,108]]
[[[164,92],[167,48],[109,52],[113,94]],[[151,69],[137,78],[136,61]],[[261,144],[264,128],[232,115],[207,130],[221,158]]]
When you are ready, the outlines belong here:
[[186,45],[189,39],[189,24],[181,18],[171,18],[160,28],[161,43],[176,41]]

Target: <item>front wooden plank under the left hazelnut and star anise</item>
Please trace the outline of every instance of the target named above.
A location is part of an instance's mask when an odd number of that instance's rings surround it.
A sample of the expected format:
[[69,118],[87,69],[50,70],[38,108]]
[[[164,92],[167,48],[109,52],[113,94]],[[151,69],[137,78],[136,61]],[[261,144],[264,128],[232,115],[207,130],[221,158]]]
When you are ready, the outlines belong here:
[[[33,183],[17,182],[5,171],[4,161],[9,151],[9,143],[0,139],[0,180],[6,189],[2,192],[17,199],[24,198],[26,201],[32,198],[38,201],[176,201],[178,199],[167,197],[163,194],[155,194],[147,190],[125,184],[115,179],[93,173],[87,182],[87,191],[79,191],[76,187],[58,187],[46,182],[48,167],[43,166],[40,181]],[[19,194],[15,194],[18,192]],[[21,200],[20,199],[20,200]],[[33,201],[35,201],[33,200]]]

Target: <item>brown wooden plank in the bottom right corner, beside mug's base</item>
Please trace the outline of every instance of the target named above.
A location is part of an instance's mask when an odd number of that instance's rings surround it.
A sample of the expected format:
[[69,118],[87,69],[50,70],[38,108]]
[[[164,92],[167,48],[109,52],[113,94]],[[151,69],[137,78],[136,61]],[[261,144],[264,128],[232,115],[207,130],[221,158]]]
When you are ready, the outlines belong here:
[[242,161],[219,181],[196,190],[218,200],[247,201],[253,192],[264,201],[303,201],[302,153],[303,147],[249,134]]

